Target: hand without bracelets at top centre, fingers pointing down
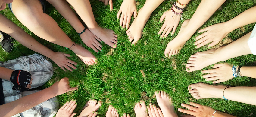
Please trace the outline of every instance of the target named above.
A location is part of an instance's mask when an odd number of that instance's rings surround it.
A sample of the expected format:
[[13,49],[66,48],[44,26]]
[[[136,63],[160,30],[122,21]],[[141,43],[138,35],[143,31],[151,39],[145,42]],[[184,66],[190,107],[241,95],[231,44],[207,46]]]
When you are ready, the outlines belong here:
[[[120,14],[122,13],[121,17]],[[129,28],[132,15],[134,18],[137,16],[137,8],[135,0],[123,0],[123,3],[117,13],[117,19],[120,17],[120,27]]]

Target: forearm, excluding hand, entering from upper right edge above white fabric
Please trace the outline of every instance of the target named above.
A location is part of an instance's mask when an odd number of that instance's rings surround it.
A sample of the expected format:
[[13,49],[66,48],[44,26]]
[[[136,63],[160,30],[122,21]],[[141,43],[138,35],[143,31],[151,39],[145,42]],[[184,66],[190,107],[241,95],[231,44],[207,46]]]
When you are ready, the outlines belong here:
[[256,11],[256,6],[251,7],[245,10],[244,12],[242,12],[241,14],[239,14],[238,16],[236,16],[235,18],[230,19],[227,22],[224,22],[224,24],[226,25],[227,31],[231,32],[241,26],[245,26],[247,24],[256,22],[256,15],[254,15],[255,11]]

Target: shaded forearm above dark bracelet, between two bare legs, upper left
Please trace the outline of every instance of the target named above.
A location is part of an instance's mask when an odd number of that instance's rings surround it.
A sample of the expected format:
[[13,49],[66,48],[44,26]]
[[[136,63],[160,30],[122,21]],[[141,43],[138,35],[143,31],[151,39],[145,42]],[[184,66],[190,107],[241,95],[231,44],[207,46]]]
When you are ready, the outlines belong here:
[[52,4],[59,13],[71,24],[71,26],[80,33],[84,30],[83,24],[80,22],[76,14],[71,9],[66,0],[47,0]]

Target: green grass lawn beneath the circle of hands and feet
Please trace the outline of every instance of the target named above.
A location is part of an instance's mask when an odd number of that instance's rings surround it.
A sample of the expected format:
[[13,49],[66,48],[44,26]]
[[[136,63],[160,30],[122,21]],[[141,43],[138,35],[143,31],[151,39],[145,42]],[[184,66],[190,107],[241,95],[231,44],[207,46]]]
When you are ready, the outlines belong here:
[[[192,0],[189,3],[185,13],[183,14],[184,20],[180,22],[176,33],[172,37],[168,36],[165,39],[159,39],[157,32],[161,28],[162,24],[158,24],[158,21],[162,13],[170,8],[170,2],[173,3],[174,0],[165,1],[152,13],[143,30],[142,38],[138,41],[136,46],[132,47],[128,41],[125,30],[122,30],[119,27],[119,21],[116,19],[122,0],[114,1],[113,12],[110,12],[109,6],[104,6],[104,3],[92,0],[91,5],[98,24],[104,28],[114,30],[118,35],[118,46],[113,50],[113,54],[109,56],[106,54],[110,51],[111,47],[103,44],[103,52],[100,54],[97,54],[92,49],[86,47],[73,27],[70,26],[70,24],[58,13],[57,10],[50,6],[50,8],[47,9],[47,14],[55,19],[61,29],[73,41],[82,44],[98,58],[98,64],[93,66],[85,65],[71,50],[38,38],[24,27],[8,8],[0,13],[5,15],[8,19],[36,38],[36,40],[53,51],[61,51],[74,55],[70,59],[79,64],[78,70],[74,73],[64,72],[50,60],[56,69],[52,79],[47,82],[43,88],[51,86],[55,81],[58,81],[63,77],[68,77],[70,79],[71,86],[74,87],[79,85],[79,89],[77,91],[68,92],[58,96],[61,105],[66,101],[76,99],[78,103],[76,110],[74,111],[76,113],[81,112],[86,101],[89,99],[97,99],[103,102],[103,105],[98,110],[99,116],[105,116],[107,107],[111,104],[117,108],[120,114],[129,113],[133,117],[135,116],[133,110],[135,103],[140,100],[144,100],[146,104],[149,104],[150,102],[157,104],[156,99],[154,98],[154,93],[156,90],[162,90],[171,95],[175,110],[181,107],[181,103],[192,101],[202,105],[208,105],[225,113],[231,113],[234,116],[255,117],[255,106],[253,105],[235,101],[225,101],[223,99],[216,98],[196,100],[189,95],[187,90],[188,85],[197,82],[210,84],[210,82],[206,82],[200,78],[201,70],[187,73],[184,65],[190,55],[199,51],[207,50],[207,46],[195,49],[193,46],[193,43],[195,42],[193,38],[199,35],[195,34],[176,56],[170,58],[164,57],[164,49],[166,48],[167,43],[177,35],[182,22],[192,17],[200,3],[200,0]],[[138,3],[139,5],[137,8],[140,9],[145,3],[145,0],[138,0]],[[255,3],[255,0],[228,0],[222,5],[222,9],[217,10],[201,28],[215,23],[228,21],[246,9],[254,6]],[[132,20],[133,19],[134,18],[132,18]],[[249,24],[244,26],[245,31],[236,29],[229,33],[227,38],[236,40],[250,32],[253,27],[254,24]],[[0,61],[7,61],[22,55],[31,55],[35,53],[18,42],[15,42],[14,46],[14,51],[8,54],[0,50]],[[256,62],[254,61],[256,61],[254,55],[244,55],[229,59],[226,62],[237,65],[255,66]],[[206,67],[204,70],[208,68],[210,67]],[[145,72],[145,77],[142,77],[140,70]],[[219,83],[218,85],[220,84],[233,86],[256,86],[255,79],[248,77],[233,78],[233,80]],[[142,93],[145,95],[142,96]],[[180,114],[181,113],[178,112],[178,115]]]

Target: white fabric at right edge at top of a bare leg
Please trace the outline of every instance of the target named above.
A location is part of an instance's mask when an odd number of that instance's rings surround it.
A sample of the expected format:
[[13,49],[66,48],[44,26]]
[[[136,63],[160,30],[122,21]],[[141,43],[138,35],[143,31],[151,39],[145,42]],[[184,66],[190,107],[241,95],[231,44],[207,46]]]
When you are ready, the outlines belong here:
[[251,36],[248,39],[248,45],[253,55],[256,55],[256,25],[254,26]]

